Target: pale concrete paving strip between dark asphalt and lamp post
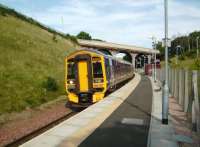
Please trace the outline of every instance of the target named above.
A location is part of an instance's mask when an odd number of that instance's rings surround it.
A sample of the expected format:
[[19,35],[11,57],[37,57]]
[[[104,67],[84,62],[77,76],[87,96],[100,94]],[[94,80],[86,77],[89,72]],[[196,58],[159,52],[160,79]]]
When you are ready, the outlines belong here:
[[[153,89],[158,89],[158,85],[151,83]],[[178,147],[177,141],[174,139],[175,134],[171,117],[169,116],[169,124],[163,125],[162,120],[162,91],[153,91],[151,126],[148,137],[148,147]]]

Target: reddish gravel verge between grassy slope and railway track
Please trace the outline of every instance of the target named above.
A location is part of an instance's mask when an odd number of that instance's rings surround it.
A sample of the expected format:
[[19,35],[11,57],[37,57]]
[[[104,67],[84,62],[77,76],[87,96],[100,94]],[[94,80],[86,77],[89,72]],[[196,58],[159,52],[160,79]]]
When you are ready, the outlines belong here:
[[[65,107],[66,98],[62,96],[56,101],[49,102],[35,109],[21,113],[7,114],[7,120],[0,125],[0,146],[23,137],[46,126],[71,112]],[[6,118],[6,115],[3,117]]]

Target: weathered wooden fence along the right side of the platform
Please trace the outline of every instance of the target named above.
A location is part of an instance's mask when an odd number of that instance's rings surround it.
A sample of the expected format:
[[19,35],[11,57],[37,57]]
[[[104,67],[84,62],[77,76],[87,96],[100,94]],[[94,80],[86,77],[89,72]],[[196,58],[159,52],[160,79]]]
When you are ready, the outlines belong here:
[[[157,78],[164,82],[164,69],[157,69]],[[170,94],[190,114],[193,130],[200,132],[200,71],[169,68],[168,79]]]

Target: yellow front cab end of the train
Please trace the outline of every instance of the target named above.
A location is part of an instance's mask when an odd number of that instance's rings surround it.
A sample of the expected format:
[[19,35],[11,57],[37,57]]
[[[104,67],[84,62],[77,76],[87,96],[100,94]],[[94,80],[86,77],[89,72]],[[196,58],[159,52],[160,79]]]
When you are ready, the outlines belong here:
[[66,73],[71,104],[88,106],[103,99],[107,88],[103,56],[86,51],[75,53],[66,59]]

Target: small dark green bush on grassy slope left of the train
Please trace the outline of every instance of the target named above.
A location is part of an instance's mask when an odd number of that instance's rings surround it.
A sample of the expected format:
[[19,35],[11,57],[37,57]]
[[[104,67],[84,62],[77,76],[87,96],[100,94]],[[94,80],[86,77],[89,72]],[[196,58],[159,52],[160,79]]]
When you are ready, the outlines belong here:
[[43,82],[43,88],[45,88],[47,91],[57,91],[58,84],[54,78],[47,77],[46,81]]

